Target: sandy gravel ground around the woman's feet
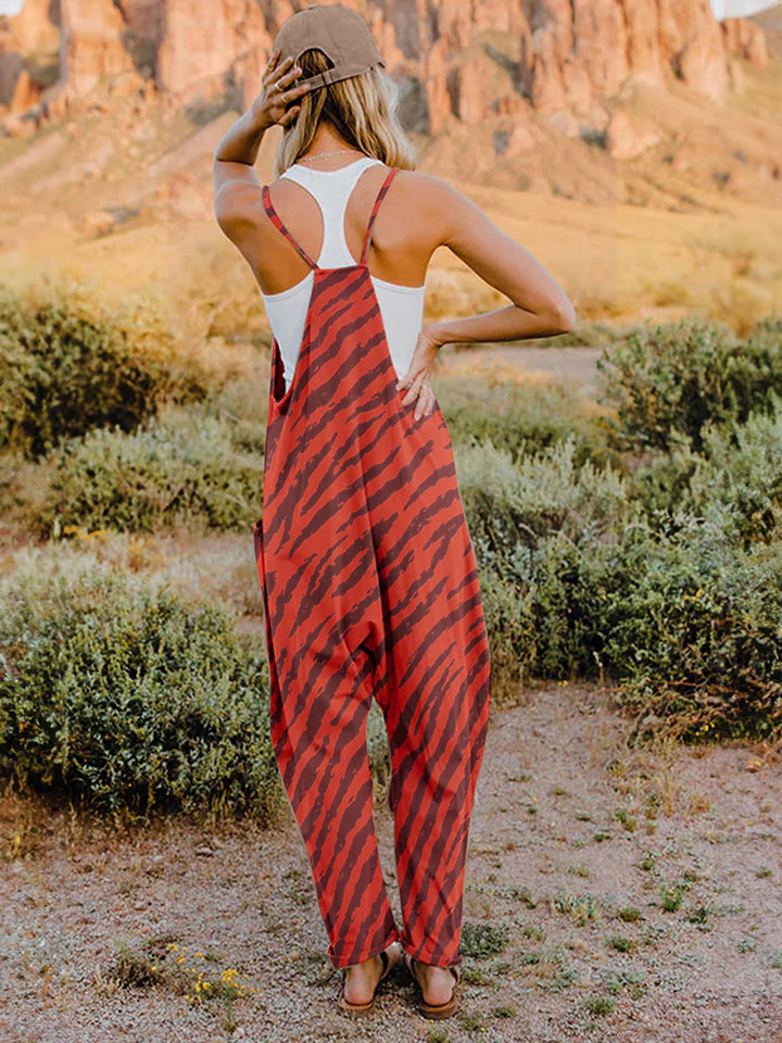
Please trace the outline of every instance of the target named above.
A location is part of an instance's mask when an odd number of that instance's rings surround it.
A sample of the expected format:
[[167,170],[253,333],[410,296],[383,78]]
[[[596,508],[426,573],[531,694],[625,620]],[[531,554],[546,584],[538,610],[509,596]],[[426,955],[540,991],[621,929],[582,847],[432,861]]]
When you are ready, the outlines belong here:
[[[420,1018],[404,972],[370,1019],[338,1011],[290,813],[273,831],[130,835],[7,796],[0,1040],[782,1043],[782,747],[631,751],[596,687],[526,699],[494,711],[467,865],[465,925],[501,951],[472,933],[456,1018]],[[376,818],[393,901],[384,804]],[[146,963],[123,973],[123,946]],[[190,1002],[178,954],[256,991]],[[155,962],[133,984],[127,967]]]

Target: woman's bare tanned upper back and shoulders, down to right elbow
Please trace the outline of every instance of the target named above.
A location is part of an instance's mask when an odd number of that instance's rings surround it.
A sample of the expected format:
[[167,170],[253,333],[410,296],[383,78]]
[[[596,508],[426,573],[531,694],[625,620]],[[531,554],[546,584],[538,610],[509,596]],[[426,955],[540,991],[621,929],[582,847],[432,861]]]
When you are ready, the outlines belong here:
[[[216,186],[215,201],[220,227],[250,264],[264,293],[290,289],[307,274],[306,261],[266,214],[254,171],[237,163],[222,166],[223,183]],[[368,167],[348,202],[344,233],[356,263],[373,204],[389,169],[384,164]],[[293,238],[311,256],[318,256],[323,218],[315,200],[289,178],[278,178],[268,187],[272,203]],[[399,171],[374,226],[369,273],[401,286],[421,286],[431,255],[441,246],[519,309],[557,316],[570,306],[543,264],[465,194],[434,175]]]

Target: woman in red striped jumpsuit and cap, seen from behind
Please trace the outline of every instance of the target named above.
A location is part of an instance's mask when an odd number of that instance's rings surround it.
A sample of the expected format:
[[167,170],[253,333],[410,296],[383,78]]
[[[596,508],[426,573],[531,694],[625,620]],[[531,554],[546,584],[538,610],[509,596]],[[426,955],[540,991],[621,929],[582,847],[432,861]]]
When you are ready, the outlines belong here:
[[[403,956],[418,1010],[457,1006],[467,833],[489,713],[489,645],[447,427],[431,387],[452,342],[571,329],[545,268],[445,180],[414,172],[393,83],[356,12],[280,28],[249,111],[215,151],[215,212],[274,331],[255,527],[272,736],[312,863],[339,1004],[364,1014]],[[300,78],[303,77],[303,78]],[[283,128],[277,179],[253,171]],[[513,303],[421,325],[445,246]],[[371,818],[366,714],[392,757],[398,883]]]

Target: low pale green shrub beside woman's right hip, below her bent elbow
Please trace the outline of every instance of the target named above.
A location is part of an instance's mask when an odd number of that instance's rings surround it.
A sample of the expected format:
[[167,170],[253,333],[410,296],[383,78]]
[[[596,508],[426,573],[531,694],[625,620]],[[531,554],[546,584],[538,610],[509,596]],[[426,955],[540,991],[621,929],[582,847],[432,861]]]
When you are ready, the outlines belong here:
[[438,382],[438,404],[456,444],[491,440],[514,460],[571,438],[576,460],[610,457],[602,427],[577,397],[555,384],[532,386],[449,377]]

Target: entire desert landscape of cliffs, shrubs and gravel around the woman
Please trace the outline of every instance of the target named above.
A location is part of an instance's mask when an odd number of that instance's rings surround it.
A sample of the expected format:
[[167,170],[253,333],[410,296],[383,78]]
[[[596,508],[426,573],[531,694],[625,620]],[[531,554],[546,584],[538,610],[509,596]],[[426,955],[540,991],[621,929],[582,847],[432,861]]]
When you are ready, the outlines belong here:
[[[0,1036],[782,1043],[782,33],[351,3],[418,168],[578,313],[438,359],[492,654],[463,1007],[400,973],[360,1023],[269,745],[272,338],[212,202],[303,5],[0,15]],[[504,303],[436,253],[425,322]]]

